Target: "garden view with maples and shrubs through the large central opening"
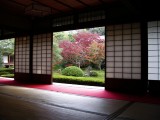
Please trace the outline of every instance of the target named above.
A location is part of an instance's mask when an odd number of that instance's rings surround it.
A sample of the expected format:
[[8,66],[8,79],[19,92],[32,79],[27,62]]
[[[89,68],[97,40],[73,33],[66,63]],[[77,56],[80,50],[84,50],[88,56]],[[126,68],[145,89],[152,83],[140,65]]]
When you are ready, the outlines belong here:
[[104,86],[104,27],[53,33],[53,81]]

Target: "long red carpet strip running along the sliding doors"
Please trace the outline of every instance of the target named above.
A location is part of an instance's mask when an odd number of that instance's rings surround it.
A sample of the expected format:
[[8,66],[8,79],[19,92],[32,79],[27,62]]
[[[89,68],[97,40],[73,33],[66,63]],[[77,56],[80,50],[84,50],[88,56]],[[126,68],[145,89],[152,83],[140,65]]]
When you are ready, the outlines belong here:
[[91,89],[86,87],[77,87],[67,86],[63,84],[52,84],[52,85],[37,85],[37,84],[22,84],[14,81],[13,79],[0,78],[0,84],[13,85],[13,86],[22,86],[28,88],[37,88],[43,90],[50,90],[56,92],[77,94],[83,96],[92,96],[98,98],[108,98],[108,99],[117,99],[117,100],[126,100],[133,102],[143,102],[143,103],[153,103],[160,104],[160,97],[149,96],[149,95],[130,95],[124,93],[117,93],[111,91],[105,91],[104,89]]

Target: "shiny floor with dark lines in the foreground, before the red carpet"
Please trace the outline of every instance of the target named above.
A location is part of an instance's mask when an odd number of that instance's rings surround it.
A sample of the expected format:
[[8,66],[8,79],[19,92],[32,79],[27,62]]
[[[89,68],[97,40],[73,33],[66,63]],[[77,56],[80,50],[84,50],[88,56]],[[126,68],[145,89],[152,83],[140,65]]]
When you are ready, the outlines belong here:
[[160,105],[0,85],[0,120],[160,120]]

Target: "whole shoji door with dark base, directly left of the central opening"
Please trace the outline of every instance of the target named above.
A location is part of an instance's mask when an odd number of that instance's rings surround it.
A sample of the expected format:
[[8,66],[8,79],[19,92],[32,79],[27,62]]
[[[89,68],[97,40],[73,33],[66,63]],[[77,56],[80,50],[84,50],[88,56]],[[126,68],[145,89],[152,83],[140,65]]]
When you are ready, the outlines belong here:
[[52,40],[53,34],[33,36],[33,80],[42,83],[52,82]]

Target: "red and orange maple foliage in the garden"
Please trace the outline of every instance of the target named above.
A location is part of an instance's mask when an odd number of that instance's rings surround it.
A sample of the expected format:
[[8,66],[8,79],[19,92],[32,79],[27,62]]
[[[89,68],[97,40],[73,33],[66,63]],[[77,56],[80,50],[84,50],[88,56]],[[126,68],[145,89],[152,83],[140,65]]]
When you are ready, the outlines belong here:
[[[61,55],[67,63],[79,67],[89,63],[101,66],[104,59],[104,41],[98,34],[90,32],[78,32],[73,35],[74,42],[63,40],[60,42]],[[99,67],[100,68],[100,67]]]

